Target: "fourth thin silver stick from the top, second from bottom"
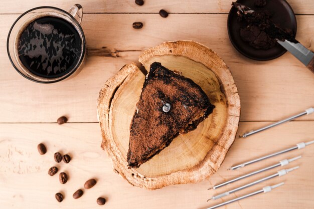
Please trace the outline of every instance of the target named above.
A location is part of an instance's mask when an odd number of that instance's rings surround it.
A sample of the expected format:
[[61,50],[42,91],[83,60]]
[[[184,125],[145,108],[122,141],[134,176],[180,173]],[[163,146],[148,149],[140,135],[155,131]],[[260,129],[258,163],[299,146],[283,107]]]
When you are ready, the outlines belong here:
[[[218,194],[218,195],[216,195],[216,196],[212,196],[212,198],[210,198],[210,199],[219,199],[219,198],[221,198],[221,197],[227,196],[227,195],[229,195],[229,194],[231,194],[231,193],[234,193],[234,192],[236,192],[236,191],[239,191],[239,190],[242,190],[242,189],[244,189],[244,188],[247,188],[247,187],[250,187],[250,186],[252,186],[252,185],[255,185],[255,184],[257,184],[257,183],[263,182],[263,181],[265,181],[265,180],[274,178],[274,177],[276,177],[276,176],[285,175],[285,174],[287,174],[288,172],[290,172],[290,171],[292,171],[292,170],[295,170],[295,169],[297,169],[297,168],[299,168],[299,166],[291,167],[291,168],[289,168],[289,169],[282,169],[282,170],[279,170],[279,171],[275,172],[274,174],[268,175],[268,176],[266,176],[266,177],[264,177],[264,178],[260,178],[260,179],[258,179],[258,180],[255,180],[255,181],[251,182],[251,183],[245,184],[245,185],[243,185],[243,186],[239,186],[239,187],[237,187],[237,188],[234,188],[234,189],[232,189],[232,190],[229,190],[229,191],[226,191],[226,192],[224,192],[224,193]],[[210,199],[208,199],[208,200],[210,200]],[[207,201],[208,201],[208,200],[207,200]]]

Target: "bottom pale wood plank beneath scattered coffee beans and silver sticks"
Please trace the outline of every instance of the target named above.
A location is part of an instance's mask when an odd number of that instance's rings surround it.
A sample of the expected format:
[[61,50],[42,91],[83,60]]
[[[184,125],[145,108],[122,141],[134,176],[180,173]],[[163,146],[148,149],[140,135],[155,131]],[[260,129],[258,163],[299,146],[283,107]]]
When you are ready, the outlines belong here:
[[[239,133],[260,127],[266,122],[240,122]],[[302,155],[287,167],[300,168],[284,175],[255,185],[247,190],[231,194],[230,198],[257,190],[262,186],[285,182],[285,185],[267,194],[260,194],[228,205],[228,209],[276,208],[311,209],[314,204],[314,155],[313,145],[292,151],[239,170],[227,170],[235,163],[280,150],[301,141],[313,140],[313,121],[295,121],[258,133],[249,138],[237,138],[229,150],[220,169],[210,179],[197,184],[167,186],[149,191],[129,185],[112,171],[111,160],[99,147],[101,142],[98,123],[58,124],[1,124],[0,126],[0,205],[1,208],[99,208],[98,196],[107,198],[106,208],[205,208],[222,201],[206,202],[213,194],[235,188],[249,181],[271,174],[280,168],[247,178],[217,190],[207,190],[215,183],[230,179],[251,170],[267,166],[278,160]],[[293,131],[291,131],[293,130]],[[37,144],[43,142],[47,153],[40,155]],[[68,164],[56,163],[53,153],[69,153]],[[58,175],[48,175],[48,169],[57,165],[60,171],[69,174],[69,181],[61,184]],[[60,172],[59,171],[59,172]],[[75,190],[83,188],[89,178],[97,184],[85,189],[79,199],[73,199]],[[54,195],[62,191],[63,202]]]

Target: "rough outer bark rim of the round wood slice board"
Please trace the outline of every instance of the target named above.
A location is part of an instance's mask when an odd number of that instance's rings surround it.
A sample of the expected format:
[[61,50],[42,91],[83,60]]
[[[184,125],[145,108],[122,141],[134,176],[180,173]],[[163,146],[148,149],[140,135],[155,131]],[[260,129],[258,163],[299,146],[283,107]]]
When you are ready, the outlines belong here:
[[[111,158],[115,172],[125,178],[130,184],[147,189],[161,188],[171,184],[197,183],[210,177],[220,167],[235,139],[240,116],[241,105],[237,87],[229,68],[217,53],[195,41],[168,41],[145,50],[139,56],[139,61],[145,63],[153,56],[162,56],[165,54],[189,57],[194,61],[203,63],[215,72],[220,79],[222,92],[225,93],[230,107],[228,108],[227,118],[228,129],[222,133],[221,140],[212,148],[214,153],[213,151],[209,151],[204,160],[192,168],[156,177],[146,177],[133,168],[128,169],[127,162],[123,160],[121,152],[114,143],[108,126],[108,113],[114,93],[123,82],[127,82],[128,78],[139,70],[135,63],[124,65],[117,75],[105,82],[99,93],[97,111],[103,137],[101,147],[107,151]],[[215,163],[210,160],[211,154],[218,155]]]

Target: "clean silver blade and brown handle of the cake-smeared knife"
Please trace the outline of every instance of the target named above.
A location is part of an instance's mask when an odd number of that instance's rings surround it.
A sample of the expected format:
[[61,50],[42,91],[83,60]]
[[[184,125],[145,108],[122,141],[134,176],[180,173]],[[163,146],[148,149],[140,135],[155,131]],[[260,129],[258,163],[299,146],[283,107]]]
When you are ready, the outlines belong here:
[[287,51],[300,60],[309,70],[314,72],[314,53],[301,43],[293,43],[288,40],[277,40]]

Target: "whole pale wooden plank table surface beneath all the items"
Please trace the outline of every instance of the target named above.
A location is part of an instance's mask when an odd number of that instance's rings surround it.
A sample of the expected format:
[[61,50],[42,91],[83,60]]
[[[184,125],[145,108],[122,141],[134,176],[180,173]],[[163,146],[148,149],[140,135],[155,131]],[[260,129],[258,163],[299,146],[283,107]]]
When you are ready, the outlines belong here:
[[[314,1],[288,0],[296,13],[296,38],[314,49]],[[41,5],[63,9],[80,3],[84,9],[82,27],[88,45],[84,69],[74,78],[53,84],[38,84],[23,78],[11,65],[6,41],[15,19],[24,11]],[[278,169],[256,175],[217,190],[211,185],[256,168],[294,157],[302,158],[286,167],[300,168],[236,192],[227,200],[268,184],[285,185],[267,194],[247,198],[222,208],[314,207],[314,145],[289,152],[236,171],[231,165],[267,152],[314,139],[314,114],[250,136],[236,138],[221,168],[210,179],[197,184],[173,185],[158,190],[133,187],[113,172],[111,161],[100,148],[100,127],[96,100],[103,83],[125,63],[137,61],[147,47],[167,40],[189,39],[215,50],[230,67],[238,86],[242,109],[238,134],[268,124],[314,105],[314,74],[291,54],[270,61],[254,61],[240,55],[227,34],[231,0],[1,0],[0,1],[0,208],[205,208],[222,199],[206,200]],[[170,13],[162,18],[158,12]],[[132,22],[142,21],[140,30]],[[58,125],[66,115],[69,121]],[[48,148],[39,155],[37,144]],[[69,174],[60,184],[58,175],[49,176],[55,165],[53,153],[69,153],[68,164],[58,164]],[[73,199],[72,193],[94,177],[97,184]],[[62,191],[63,202],[54,194]],[[98,196],[107,198],[104,206]]]

